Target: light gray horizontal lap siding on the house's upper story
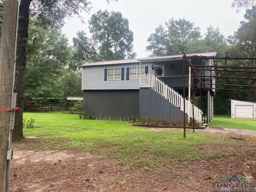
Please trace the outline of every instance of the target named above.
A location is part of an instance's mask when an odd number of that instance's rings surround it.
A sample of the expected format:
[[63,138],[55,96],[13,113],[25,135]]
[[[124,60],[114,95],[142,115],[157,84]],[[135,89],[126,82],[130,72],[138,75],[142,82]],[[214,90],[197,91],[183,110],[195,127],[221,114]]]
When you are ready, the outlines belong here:
[[[200,61],[192,61],[194,64],[201,64]],[[213,62],[213,61],[212,61]],[[204,62],[206,66],[213,65],[206,60]],[[173,60],[166,62],[149,62],[142,63],[142,66],[148,66],[148,74],[154,74],[151,65],[164,65],[164,78],[162,79],[166,84],[172,88],[183,87],[183,61]],[[126,63],[126,64],[111,64],[111,65],[96,65],[96,66],[83,66],[82,69],[82,90],[131,90],[139,89],[139,80],[130,80],[128,78],[129,72],[127,68],[129,67],[139,67],[140,63]],[[123,80],[106,80],[105,70],[110,68],[122,68],[124,71]],[[193,70],[192,70],[193,72]],[[202,72],[200,75],[208,75],[208,72]],[[186,75],[186,86],[188,82],[188,67],[185,69]],[[168,77],[174,77],[174,79],[168,79]],[[177,83],[177,84],[176,84]]]

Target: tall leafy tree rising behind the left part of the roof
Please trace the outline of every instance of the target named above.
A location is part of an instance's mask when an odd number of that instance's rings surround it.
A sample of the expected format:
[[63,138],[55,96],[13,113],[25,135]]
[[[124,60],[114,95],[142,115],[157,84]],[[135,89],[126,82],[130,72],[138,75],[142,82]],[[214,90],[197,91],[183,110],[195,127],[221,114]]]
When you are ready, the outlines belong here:
[[129,21],[120,12],[99,10],[89,20],[92,38],[98,42],[99,55],[103,60],[120,60],[134,57],[133,32]]

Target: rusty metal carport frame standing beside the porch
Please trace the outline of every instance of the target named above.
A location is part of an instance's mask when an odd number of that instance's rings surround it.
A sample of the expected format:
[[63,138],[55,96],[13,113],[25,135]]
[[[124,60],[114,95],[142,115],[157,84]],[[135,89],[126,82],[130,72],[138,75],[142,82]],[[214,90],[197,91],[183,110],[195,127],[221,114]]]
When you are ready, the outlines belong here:
[[[201,64],[198,64],[198,65],[194,65],[192,64],[192,62],[190,61],[191,59],[201,59],[201,60],[204,60],[204,59],[214,59],[216,62],[218,61],[222,61],[225,63],[224,66],[217,66],[217,65],[213,65],[212,67],[209,67],[209,66],[205,66],[205,65],[202,65],[202,62]],[[239,63],[241,64],[244,64],[244,62],[242,62],[241,60],[251,60],[251,64],[252,66],[248,67],[248,66],[228,66],[227,65],[227,61],[228,60],[234,60],[234,62],[238,61]],[[184,99],[184,103],[185,103],[185,97],[186,97],[186,94],[185,94],[185,68],[186,67],[190,67],[194,70],[194,74],[192,73],[191,76],[192,76],[192,105],[194,105],[194,78],[193,77],[196,77],[198,78],[198,81],[200,82],[200,90],[207,90],[208,93],[210,92],[210,90],[212,90],[212,86],[215,86],[215,90],[232,90],[232,91],[242,91],[242,92],[256,92],[256,86],[254,86],[254,84],[256,83],[256,78],[246,78],[246,77],[233,77],[233,76],[227,76],[226,75],[226,72],[244,72],[244,73],[252,73],[252,74],[255,74],[256,73],[256,58],[235,58],[235,57],[228,57],[228,53],[226,52],[226,57],[207,57],[207,56],[186,56],[186,54],[183,52],[183,99]],[[233,63],[234,63],[233,62]],[[218,69],[219,68],[219,69]],[[230,70],[230,69],[235,69],[235,70]],[[236,69],[242,69],[242,70],[236,70]],[[244,70],[243,70],[244,69]],[[215,76],[215,75],[210,75],[210,76],[202,76],[202,75],[198,75],[198,71],[210,71],[210,74],[215,74],[215,73],[212,73],[212,72],[215,72],[215,71],[219,71],[219,72],[224,72],[224,76]],[[201,81],[201,78],[202,77],[207,77],[207,78],[210,78],[210,79],[216,79],[216,78],[222,78],[223,81],[222,81],[222,84],[216,84],[216,83],[207,83],[207,82],[202,82]],[[225,79],[244,79],[244,80],[252,80],[252,82],[250,83],[250,85],[248,84],[225,84],[224,83],[224,80]],[[202,88],[202,85],[203,88]],[[206,87],[205,87],[206,86]],[[210,86],[211,88],[207,88],[207,86]],[[219,88],[219,87],[216,87],[216,86],[234,86],[234,87],[242,87],[242,89],[235,89],[235,88],[232,88],[232,89],[227,89],[227,88]],[[255,90],[248,90],[248,89],[244,89],[244,87],[251,87],[251,88],[255,88]],[[208,96],[209,97],[209,96]],[[210,116],[209,115],[209,109],[210,109],[210,101],[209,98],[207,100],[207,114],[208,114],[208,117]],[[186,137],[186,120],[185,120],[185,110],[184,110],[184,138]],[[209,123],[210,120],[209,118],[207,118],[207,123]],[[194,111],[193,111],[193,132],[194,132]]]

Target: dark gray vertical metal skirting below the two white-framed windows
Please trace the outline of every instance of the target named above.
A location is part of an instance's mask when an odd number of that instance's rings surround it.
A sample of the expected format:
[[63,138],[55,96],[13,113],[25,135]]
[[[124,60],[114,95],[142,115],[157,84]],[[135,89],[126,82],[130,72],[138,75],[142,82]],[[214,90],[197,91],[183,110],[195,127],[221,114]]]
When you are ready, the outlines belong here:
[[139,90],[84,90],[85,114],[95,119],[128,121],[138,116]]

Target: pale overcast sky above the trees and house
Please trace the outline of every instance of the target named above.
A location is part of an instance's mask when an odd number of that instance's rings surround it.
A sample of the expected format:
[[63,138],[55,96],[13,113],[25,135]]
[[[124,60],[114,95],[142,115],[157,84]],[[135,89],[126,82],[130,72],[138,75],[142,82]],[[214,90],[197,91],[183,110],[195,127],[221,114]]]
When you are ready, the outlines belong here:
[[219,27],[220,31],[227,37],[233,35],[244,20],[245,10],[236,13],[232,9],[233,0],[118,0],[110,2],[106,0],[92,0],[92,9],[89,14],[84,13],[84,24],[78,18],[66,20],[62,32],[68,37],[72,45],[72,38],[76,32],[83,30],[90,36],[88,20],[98,10],[109,12],[119,11],[124,18],[129,20],[129,28],[134,32],[134,52],[136,58],[145,58],[150,53],[146,52],[147,38],[154,33],[160,24],[164,25],[170,18],[175,20],[185,18],[193,22],[196,27],[201,28],[201,34],[206,32],[210,25]]

